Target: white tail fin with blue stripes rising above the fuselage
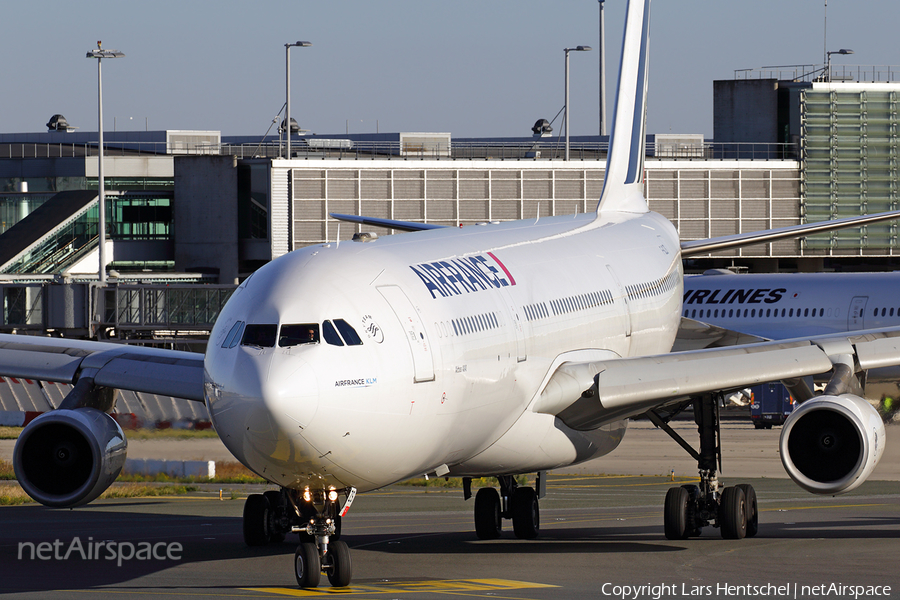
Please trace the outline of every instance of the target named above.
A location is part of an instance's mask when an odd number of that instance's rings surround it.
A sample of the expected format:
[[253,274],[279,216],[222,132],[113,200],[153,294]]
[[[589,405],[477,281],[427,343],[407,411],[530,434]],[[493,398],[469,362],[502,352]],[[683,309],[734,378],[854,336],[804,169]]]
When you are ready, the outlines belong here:
[[613,130],[597,213],[649,211],[644,199],[644,153],[650,0],[629,0],[619,64]]

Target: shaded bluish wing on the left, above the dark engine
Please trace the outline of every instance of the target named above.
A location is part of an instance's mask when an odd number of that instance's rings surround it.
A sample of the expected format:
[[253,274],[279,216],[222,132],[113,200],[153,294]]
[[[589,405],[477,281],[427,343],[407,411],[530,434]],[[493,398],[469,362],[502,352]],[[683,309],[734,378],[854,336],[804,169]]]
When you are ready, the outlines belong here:
[[203,402],[203,355],[108,342],[0,334],[0,375]]

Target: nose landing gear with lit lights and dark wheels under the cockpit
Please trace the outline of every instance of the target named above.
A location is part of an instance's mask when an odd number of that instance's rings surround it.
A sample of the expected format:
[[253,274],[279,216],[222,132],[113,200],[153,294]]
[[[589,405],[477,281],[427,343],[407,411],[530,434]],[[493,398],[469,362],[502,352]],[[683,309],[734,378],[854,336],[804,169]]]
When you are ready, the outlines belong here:
[[[343,506],[338,499],[346,494]],[[244,542],[248,546],[281,543],[288,533],[300,536],[294,552],[294,574],[302,588],[317,587],[322,573],[333,587],[350,585],[350,548],[341,541],[341,517],[350,509],[356,489],[268,491],[251,494],[244,504]]]

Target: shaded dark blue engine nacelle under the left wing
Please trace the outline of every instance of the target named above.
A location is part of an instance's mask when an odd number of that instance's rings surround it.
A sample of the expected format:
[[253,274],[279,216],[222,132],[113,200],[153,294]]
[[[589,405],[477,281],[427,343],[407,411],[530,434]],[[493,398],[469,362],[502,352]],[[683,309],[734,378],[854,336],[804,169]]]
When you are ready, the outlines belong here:
[[125,465],[122,428],[94,408],[54,410],[19,435],[13,466],[19,485],[46,506],[87,504],[108,488]]

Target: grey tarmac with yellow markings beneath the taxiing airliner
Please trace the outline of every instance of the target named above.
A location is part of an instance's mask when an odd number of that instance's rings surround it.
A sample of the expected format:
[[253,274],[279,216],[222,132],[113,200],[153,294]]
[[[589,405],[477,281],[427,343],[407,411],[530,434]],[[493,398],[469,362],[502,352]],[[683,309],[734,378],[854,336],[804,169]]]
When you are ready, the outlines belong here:
[[[690,423],[683,427],[691,431]],[[889,438],[894,430],[889,429]],[[769,464],[772,456],[752,455],[768,452],[764,448],[777,443],[778,433],[723,424],[726,451],[730,446],[741,449],[730,459],[734,476],[726,482],[751,483],[760,498],[760,532],[752,539],[723,540],[712,528],[700,538],[665,539],[666,490],[690,481],[693,474],[679,467],[673,483],[675,463],[658,453],[671,445],[674,460],[680,449],[652,426],[638,423],[594,472],[620,468],[614,457],[628,450],[626,443],[657,456],[646,462],[634,456],[622,459],[623,470],[637,471],[631,475],[553,474],[541,501],[537,540],[515,539],[505,522],[501,539],[479,541],[472,501],[464,502],[460,490],[391,486],[359,496],[344,521],[354,565],[351,587],[333,591],[323,578],[316,590],[298,590],[292,572],[295,543],[252,549],[243,544],[243,498],[263,488],[203,485],[187,496],[102,501],[75,510],[0,508],[0,593],[116,599],[276,599],[334,593],[404,599],[669,598],[692,592],[697,598],[834,598],[858,591],[840,586],[863,586],[871,595],[860,598],[900,597],[900,482],[878,480],[876,473],[875,480],[855,492],[832,498],[803,492],[783,471],[780,476],[744,476],[744,468],[760,463],[780,467],[777,452],[775,465]],[[747,464],[739,466],[744,453],[750,453]],[[882,464],[896,465],[896,458],[888,452]],[[727,453],[724,462],[728,473]],[[219,487],[224,488],[221,501]],[[76,551],[68,559],[27,556],[29,543],[53,547],[58,540],[62,554],[75,538],[82,545],[102,540],[116,542],[119,549],[145,544],[160,552],[177,543],[181,550],[177,559],[130,559],[121,566],[102,555],[83,559]],[[26,556],[19,558],[23,544]],[[890,596],[875,595],[884,593],[883,586],[892,588]],[[846,593],[839,594],[841,590]]]

